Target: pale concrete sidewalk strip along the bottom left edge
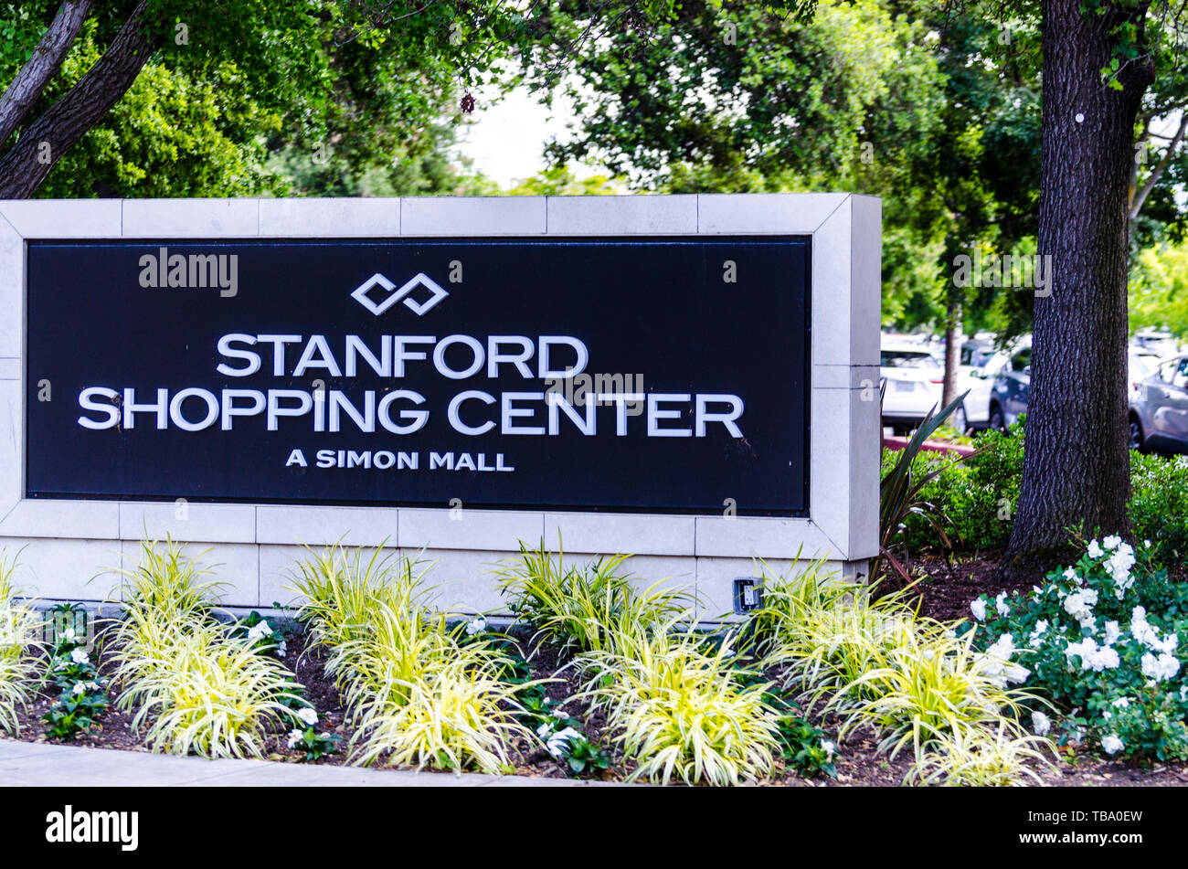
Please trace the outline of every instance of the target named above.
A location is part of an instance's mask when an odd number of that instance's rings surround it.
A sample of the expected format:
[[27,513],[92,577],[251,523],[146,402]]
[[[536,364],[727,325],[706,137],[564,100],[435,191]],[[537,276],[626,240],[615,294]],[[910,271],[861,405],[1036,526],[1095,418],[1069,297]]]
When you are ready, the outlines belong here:
[[523,775],[412,773],[257,760],[203,760],[0,740],[0,787],[601,787]]

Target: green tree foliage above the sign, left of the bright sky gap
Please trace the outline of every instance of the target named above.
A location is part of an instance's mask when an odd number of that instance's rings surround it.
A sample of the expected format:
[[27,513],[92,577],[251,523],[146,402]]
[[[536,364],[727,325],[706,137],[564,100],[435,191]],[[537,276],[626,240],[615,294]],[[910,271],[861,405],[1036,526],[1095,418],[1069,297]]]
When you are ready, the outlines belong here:
[[[0,4],[0,81],[30,57],[58,4]],[[529,38],[495,2],[431,4],[385,20],[355,2],[153,0],[162,43],[39,196],[468,194],[450,151],[463,85]],[[96,8],[32,121],[106,51],[129,4]],[[450,42],[455,19],[468,38]],[[181,40],[176,26],[187,28]],[[460,77],[459,71],[466,70]],[[4,145],[0,142],[0,145]],[[55,156],[57,157],[57,156]]]

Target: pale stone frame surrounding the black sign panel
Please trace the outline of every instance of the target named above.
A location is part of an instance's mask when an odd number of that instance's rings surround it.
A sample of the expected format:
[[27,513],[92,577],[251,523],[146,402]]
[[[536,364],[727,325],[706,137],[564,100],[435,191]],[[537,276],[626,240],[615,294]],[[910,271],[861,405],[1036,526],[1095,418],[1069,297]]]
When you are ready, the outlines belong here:
[[[145,534],[259,547],[349,545],[514,552],[561,533],[574,552],[691,559],[690,572],[797,552],[858,563],[878,548],[880,227],[878,198],[852,194],[590,197],[0,201],[0,546],[17,540],[137,541]],[[354,239],[576,235],[809,235],[811,430],[808,519],[26,500],[25,240]],[[874,392],[877,394],[877,389]],[[119,548],[115,544],[113,548]],[[244,560],[242,569],[251,571]],[[260,585],[260,558],[255,576]],[[721,565],[720,570],[709,570]],[[750,571],[746,571],[750,572]],[[259,594],[263,594],[260,591]],[[265,602],[266,603],[266,602]]]

